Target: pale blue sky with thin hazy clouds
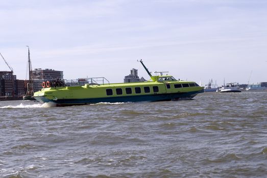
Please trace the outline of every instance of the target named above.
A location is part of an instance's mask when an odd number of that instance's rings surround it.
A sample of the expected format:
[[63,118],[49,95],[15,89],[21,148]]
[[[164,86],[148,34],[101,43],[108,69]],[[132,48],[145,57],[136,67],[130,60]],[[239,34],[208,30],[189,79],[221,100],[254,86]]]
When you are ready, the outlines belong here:
[[[32,67],[64,79],[123,82],[130,70],[182,80],[267,81],[265,0],[0,0],[0,52],[17,79]],[[0,71],[9,71],[0,58]]]

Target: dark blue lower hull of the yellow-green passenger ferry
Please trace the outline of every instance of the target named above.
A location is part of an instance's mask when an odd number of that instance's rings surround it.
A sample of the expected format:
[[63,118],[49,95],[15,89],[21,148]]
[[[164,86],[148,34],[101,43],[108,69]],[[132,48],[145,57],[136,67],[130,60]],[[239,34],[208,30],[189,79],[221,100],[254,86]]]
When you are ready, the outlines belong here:
[[171,93],[171,94],[156,94],[156,95],[139,95],[139,96],[122,96],[122,97],[105,97],[105,98],[84,98],[84,99],[48,99],[45,96],[34,97],[41,103],[54,102],[57,106],[85,105],[101,102],[116,103],[116,102],[142,102],[142,101],[171,101],[171,100],[190,100],[204,90],[187,93]]

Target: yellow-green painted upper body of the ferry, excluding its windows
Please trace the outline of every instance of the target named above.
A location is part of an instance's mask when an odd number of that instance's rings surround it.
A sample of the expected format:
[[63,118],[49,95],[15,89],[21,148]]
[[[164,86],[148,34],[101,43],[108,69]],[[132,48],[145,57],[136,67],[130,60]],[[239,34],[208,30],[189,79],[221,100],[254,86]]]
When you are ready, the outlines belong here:
[[[132,83],[112,83],[112,84],[101,84],[101,85],[89,85],[83,86],[65,86],[65,87],[52,87],[43,88],[41,91],[34,93],[34,97],[45,96],[50,100],[57,99],[84,99],[84,98],[107,98],[107,97],[123,97],[123,96],[137,96],[137,95],[156,95],[156,94],[171,94],[171,93],[187,93],[203,90],[201,86],[190,86],[175,88],[174,84],[182,83],[195,83],[192,81],[182,80],[162,80],[162,77],[172,77],[170,75],[164,76],[152,76],[150,81],[146,82],[132,82]],[[169,84],[171,88],[167,88],[166,84]],[[144,93],[144,87],[150,87],[150,93]],[[158,86],[159,92],[153,92],[153,86]],[[132,94],[126,94],[126,88],[132,88]],[[135,87],[141,88],[141,93],[135,93]],[[122,88],[123,94],[117,95],[116,88]],[[107,95],[106,90],[112,89],[113,95]]]

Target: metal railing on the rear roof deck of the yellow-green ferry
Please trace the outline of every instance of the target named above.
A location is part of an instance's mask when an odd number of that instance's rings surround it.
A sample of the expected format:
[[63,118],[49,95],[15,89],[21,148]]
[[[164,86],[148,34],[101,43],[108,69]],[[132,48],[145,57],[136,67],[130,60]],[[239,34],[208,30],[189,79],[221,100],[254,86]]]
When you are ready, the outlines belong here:
[[66,80],[67,86],[77,86],[77,85],[104,85],[109,84],[109,81],[105,77],[92,77],[92,78],[78,78],[76,80]]

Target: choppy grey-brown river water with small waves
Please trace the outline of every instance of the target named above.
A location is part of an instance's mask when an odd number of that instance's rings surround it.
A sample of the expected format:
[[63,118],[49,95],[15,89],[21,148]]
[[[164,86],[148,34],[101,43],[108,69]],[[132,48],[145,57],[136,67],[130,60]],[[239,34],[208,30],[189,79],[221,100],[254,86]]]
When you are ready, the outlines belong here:
[[0,102],[0,177],[266,177],[267,92]]

